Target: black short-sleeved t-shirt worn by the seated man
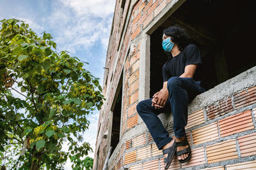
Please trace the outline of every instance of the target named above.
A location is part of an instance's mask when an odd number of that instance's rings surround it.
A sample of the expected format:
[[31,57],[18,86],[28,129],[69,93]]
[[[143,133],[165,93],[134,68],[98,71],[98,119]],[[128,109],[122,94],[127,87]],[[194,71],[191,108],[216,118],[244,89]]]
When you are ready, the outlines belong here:
[[[186,46],[177,56],[164,64],[163,81],[168,81],[172,76],[180,76],[184,73],[185,67],[189,64],[202,64],[200,50],[197,46],[192,44]],[[198,71],[198,69],[196,69],[196,71]]]

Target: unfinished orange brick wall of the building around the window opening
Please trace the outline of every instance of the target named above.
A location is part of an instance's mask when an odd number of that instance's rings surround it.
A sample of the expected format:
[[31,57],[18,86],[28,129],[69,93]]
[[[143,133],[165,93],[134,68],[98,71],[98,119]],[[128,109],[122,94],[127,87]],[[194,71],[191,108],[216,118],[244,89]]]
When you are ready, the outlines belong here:
[[[140,124],[136,104],[139,96],[141,32],[148,27],[171,0],[126,1],[124,10],[116,1],[113,30],[109,38],[104,74],[106,101],[100,110],[98,137],[93,169],[102,169],[108,150],[109,112],[113,104],[120,74],[124,71],[120,143],[109,159],[109,169],[164,169],[163,153],[157,149],[147,128],[131,134]],[[131,4],[130,4],[131,3]],[[130,6],[128,5],[130,4]],[[129,15],[131,11],[131,15]],[[130,16],[130,17],[127,17]],[[127,17],[125,20],[124,18]],[[122,32],[122,28],[127,27]],[[124,38],[122,39],[122,35]],[[118,50],[118,46],[119,50]],[[130,48],[133,46],[133,48]],[[129,50],[130,48],[130,50]],[[108,78],[107,78],[108,75]],[[238,90],[238,89],[237,89]],[[179,164],[176,158],[170,169],[255,169],[256,168],[256,87],[234,90],[210,104],[200,105],[188,115],[186,135],[192,149],[189,162]],[[189,109],[190,110],[190,109]],[[164,126],[173,136],[172,122]],[[141,126],[140,126],[141,127]],[[141,130],[141,129],[140,129]],[[97,156],[97,151],[99,155]],[[97,164],[95,163],[97,162]]]

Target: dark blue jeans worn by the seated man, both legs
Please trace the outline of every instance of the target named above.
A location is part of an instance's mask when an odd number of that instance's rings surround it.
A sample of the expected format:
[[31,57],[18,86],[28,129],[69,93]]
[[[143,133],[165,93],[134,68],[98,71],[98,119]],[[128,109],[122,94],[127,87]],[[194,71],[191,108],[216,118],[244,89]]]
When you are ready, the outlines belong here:
[[152,99],[146,99],[137,105],[138,114],[147,125],[159,150],[172,141],[172,138],[169,137],[157,115],[172,111],[174,134],[177,138],[184,137],[188,122],[188,103],[196,95],[205,92],[200,86],[200,81],[195,81],[193,78],[172,77],[168,80],[167,89],[169,97],[164,108],[155,109],[152,106]]

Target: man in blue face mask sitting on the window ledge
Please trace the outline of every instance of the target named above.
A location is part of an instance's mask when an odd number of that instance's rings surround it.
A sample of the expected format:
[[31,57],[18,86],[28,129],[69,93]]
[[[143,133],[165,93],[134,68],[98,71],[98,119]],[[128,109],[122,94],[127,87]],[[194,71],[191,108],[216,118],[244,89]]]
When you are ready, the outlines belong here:
[[[172,53],[172,58],[163,66],[163,89],[154,94],[152,99],[141,101],[137,111],[159,150],[163,149],[164,169],[168,169],[175,153],[179,162],[187,162],[191,158],[185,133],[188,103],[196,95],[205,92],[205,89],[200,81],[193,80],[196,67],[202,64],[200,50],[188,44],[186,31],[178,26],[169,27],[163,32],[163,49]],[[175,140],[169,137],[157,117],[160,113],[170,111],[173,113]]]

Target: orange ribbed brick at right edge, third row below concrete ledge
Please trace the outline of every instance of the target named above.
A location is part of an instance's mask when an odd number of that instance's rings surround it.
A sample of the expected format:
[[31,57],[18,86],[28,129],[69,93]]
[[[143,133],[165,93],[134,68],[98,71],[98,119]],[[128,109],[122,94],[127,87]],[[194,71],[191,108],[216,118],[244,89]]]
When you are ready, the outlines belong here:
[[241,157],[256,155],[256,133],[238,138]]

